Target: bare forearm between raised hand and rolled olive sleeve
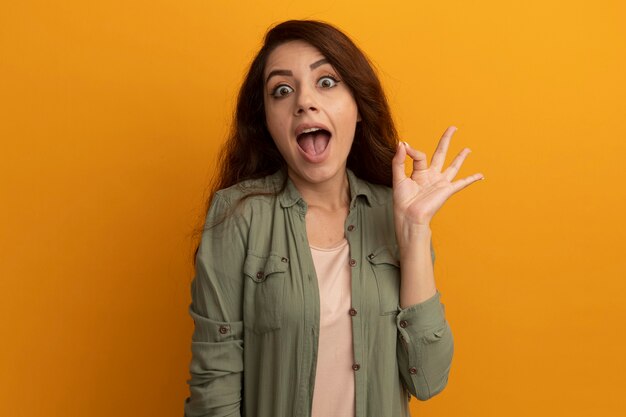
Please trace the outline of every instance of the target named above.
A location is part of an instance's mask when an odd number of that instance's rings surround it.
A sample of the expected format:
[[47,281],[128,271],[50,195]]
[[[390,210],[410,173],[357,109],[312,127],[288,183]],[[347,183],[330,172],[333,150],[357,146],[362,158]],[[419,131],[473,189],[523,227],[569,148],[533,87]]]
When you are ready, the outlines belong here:
[[430,226],[419,225],[398,233],[400,247],[400,307],[425,301],[437,292],[430,251]]

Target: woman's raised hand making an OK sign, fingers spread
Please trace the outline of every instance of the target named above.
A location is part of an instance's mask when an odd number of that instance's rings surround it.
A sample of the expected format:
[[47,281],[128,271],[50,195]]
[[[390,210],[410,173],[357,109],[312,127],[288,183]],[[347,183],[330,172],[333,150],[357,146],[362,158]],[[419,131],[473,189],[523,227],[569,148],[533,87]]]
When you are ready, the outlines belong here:
[[[430,166],[427,165],[425,153],[411,148],[406,142],[400,142],[392,160],[396,233],[406,236],[408,229],[413,226],[418,228],[429,226],[435,213],[452,194],[483,179],[483,175],[477,173],[452,181],[471,152],[469,148],[459,152],[450,166],[442,172],[448,145],[456,130],[454,126],[446,129],[439,140]],[[408,177],[404,170],[407,155],[413,159],[413,172]],[[398,238],[400,237],[398,235]]]

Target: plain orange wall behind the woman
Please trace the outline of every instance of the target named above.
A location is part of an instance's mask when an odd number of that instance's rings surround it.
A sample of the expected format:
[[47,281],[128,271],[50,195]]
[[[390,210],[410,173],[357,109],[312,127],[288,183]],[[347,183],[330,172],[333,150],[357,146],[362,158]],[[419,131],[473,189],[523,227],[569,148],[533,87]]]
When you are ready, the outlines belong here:
[[343,28],[402,138],[456,125],[486,177],[433,223],[455,356],[413,414],[626,415],[622,0],[4,2],[0,415],[182,415],[192,232],[288,18]]

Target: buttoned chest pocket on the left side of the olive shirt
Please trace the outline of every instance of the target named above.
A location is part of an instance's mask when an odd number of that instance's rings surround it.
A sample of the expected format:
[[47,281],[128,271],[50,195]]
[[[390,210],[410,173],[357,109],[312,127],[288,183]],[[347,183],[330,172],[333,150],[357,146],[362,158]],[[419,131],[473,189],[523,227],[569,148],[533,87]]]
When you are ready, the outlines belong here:
[[279,255],[248,253],[243,266],[244,326],[255,333],[280,329],[283,319],[283,290],[289,259]]

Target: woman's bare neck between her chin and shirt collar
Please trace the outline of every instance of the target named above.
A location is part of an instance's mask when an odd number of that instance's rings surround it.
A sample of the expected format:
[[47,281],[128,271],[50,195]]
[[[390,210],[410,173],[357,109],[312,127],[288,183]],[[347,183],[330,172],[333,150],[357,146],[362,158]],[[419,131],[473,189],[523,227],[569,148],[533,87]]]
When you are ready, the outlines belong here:
[[350,205],[350,183],[346,171],[343,171],[342,175],[318,184],[307,183],[296,178],[295,175],[290,175],[289,178],[309,207],[334,211]]

